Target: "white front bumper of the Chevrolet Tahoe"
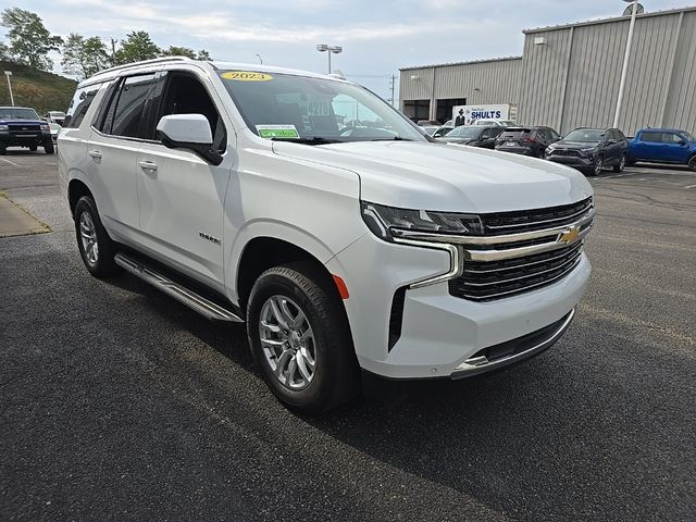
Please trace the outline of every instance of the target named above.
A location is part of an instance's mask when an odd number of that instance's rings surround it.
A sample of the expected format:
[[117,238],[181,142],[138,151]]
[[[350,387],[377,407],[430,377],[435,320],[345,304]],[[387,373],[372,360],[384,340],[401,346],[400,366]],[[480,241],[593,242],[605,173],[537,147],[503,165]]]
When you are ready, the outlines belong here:
[[[562,279],[492,301],[451,296],[446,281],[410,287],[447,272],[449,262],[445,251],[365,235],[327,263],[348,286],[350,297],[344,302],[363,370],[389,378],[461,378],[537,355],[570,324],[591,274],[583,253]],[[400,335],[389,346],[400,288]]]

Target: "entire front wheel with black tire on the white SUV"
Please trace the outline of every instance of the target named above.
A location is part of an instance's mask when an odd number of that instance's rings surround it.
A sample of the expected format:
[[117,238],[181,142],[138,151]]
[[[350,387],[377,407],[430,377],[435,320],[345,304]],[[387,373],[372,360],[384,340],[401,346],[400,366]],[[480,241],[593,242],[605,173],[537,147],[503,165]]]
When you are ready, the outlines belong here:
[[359,373],[348,321],[325,277],[310,265],[266,270],[247,306],[247,333],[271,391],[320,414],[349,400]]

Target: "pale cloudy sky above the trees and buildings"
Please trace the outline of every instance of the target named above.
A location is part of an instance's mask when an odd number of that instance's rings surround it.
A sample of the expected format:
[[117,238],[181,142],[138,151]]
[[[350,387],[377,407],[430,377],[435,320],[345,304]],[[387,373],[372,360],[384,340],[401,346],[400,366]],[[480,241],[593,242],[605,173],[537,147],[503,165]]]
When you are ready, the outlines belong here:
[[[651,12],[688,2],[641,3]],[[316,45],[341,46],[332,69],[385,99],[400,67],[521,55],[525,28],[617,16],[627,5],[622,0],[0,0],[0,9],[37,13],[60,36],[78,33],[109,41],[147,30],[160,47],[207,49],[224,61],[259,63],[260,54],[265,64],[326,72],[326,53]],[[396,84],[398,89],[398,77]]]

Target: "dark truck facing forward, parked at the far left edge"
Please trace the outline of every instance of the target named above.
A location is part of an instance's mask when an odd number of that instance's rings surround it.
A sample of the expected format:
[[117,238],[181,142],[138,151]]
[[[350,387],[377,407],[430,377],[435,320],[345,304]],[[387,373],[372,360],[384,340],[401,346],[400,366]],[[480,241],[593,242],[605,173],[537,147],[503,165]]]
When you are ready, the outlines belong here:
[[44,147],[47,154],[52,154],[51,128],[29,107],[0,107],[0,154],[4,156],[8,147],[30,151]]

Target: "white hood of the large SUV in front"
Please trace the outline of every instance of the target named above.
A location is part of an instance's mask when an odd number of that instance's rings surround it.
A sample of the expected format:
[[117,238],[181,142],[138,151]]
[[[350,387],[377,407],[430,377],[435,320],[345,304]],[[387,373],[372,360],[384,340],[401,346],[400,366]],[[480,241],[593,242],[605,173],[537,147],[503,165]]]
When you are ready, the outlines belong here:
[[589,183],[573,169],[486,149],[410,141],[275,141],[273,150],[355,172],[363,200],[390,207],[484,213],[567,204],[592,195]]

